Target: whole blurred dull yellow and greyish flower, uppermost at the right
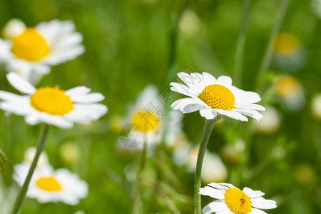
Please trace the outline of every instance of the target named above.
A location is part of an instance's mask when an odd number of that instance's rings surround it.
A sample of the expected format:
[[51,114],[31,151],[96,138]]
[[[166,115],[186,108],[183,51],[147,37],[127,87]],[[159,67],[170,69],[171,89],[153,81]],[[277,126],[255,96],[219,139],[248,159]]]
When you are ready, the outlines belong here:
[[296,70],[306,61],[306,51],[293,34],[280,33],[274,39],[273,63],[279,68]]

